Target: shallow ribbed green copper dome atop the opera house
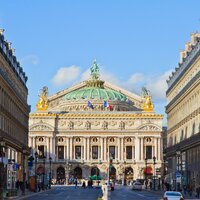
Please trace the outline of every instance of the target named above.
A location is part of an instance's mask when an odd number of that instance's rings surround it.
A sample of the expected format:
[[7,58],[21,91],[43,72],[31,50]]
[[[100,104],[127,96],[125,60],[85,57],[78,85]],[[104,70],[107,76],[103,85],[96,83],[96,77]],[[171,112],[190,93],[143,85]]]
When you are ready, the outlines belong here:
[[111,100],[111,101],[126,101],[127,97],[115,90],[100,88],[100,87],[84,87],[75,91],[72,91],[65,95],[65,100],[75,100],[75,99],[101,99],[101,100]]

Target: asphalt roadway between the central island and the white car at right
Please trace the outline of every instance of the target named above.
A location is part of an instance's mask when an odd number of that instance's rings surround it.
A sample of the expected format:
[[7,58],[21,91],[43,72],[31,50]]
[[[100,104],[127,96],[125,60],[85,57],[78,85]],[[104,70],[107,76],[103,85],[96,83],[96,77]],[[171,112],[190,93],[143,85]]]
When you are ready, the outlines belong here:
[[115,190],[111,192],[111,200],[160,200],[162,195],[142,191],[133,191],[130,187],[115,186]]

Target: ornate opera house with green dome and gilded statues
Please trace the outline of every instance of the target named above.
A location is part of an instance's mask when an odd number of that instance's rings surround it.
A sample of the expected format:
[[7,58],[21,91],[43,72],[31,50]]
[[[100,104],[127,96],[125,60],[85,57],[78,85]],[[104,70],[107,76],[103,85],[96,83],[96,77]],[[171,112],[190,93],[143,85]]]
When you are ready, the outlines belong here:
[[[151,176],[162,163],[162,119],[153,110],[149,91],[138,96],[99,78],[96,62],[91,78],[48,96],[44,87],[37,111],[30,114],[29,146],[45,159],[57,181],[100,175],[117,180]],[[156,164],[153,165],[153,157]],[[145,166],[147,158],[147,166]],[[44,171],[43,160],[37,173]]]

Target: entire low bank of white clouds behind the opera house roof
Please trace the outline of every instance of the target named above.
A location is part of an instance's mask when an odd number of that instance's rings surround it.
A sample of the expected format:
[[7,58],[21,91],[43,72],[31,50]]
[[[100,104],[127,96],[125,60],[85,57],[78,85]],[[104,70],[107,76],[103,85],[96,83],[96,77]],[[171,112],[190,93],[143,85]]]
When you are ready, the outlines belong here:
[[[116,84],[120,87],[123,87],[129,91],[132,91],[136,94],[141,94],[141,88],[145,86],[150,90],[152,97],[155,101],[166,101],[166,90],[169,75],[172,70],[166,71],[163,74],[153,75],[153,74],[142,74],[134,73],[132,74],[127,81],[118,79],[114,74],[101,68],[100,78],[102,80],[108,81],[112,84]],[[78,83],[85,81],[90,78],[90,69],[87,69],[84,72],[80,72],[80,68],[77,66],[63,67],[60,68],[56,75],[53,77],[52,82],[56,86],[63,86],[68,83]]]

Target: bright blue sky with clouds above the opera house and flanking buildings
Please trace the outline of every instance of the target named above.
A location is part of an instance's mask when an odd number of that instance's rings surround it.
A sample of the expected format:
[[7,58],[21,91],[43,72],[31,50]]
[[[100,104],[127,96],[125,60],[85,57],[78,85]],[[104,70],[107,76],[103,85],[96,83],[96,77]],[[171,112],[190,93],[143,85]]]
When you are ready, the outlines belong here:
[[39,89],[53,94],[87,78],[96,58],[102,78],[135,93],[145,85],[163,114],[165,80],[199,30],[199,7],[198,0],[2,0],[0,27],[28,75],[32,111]]

